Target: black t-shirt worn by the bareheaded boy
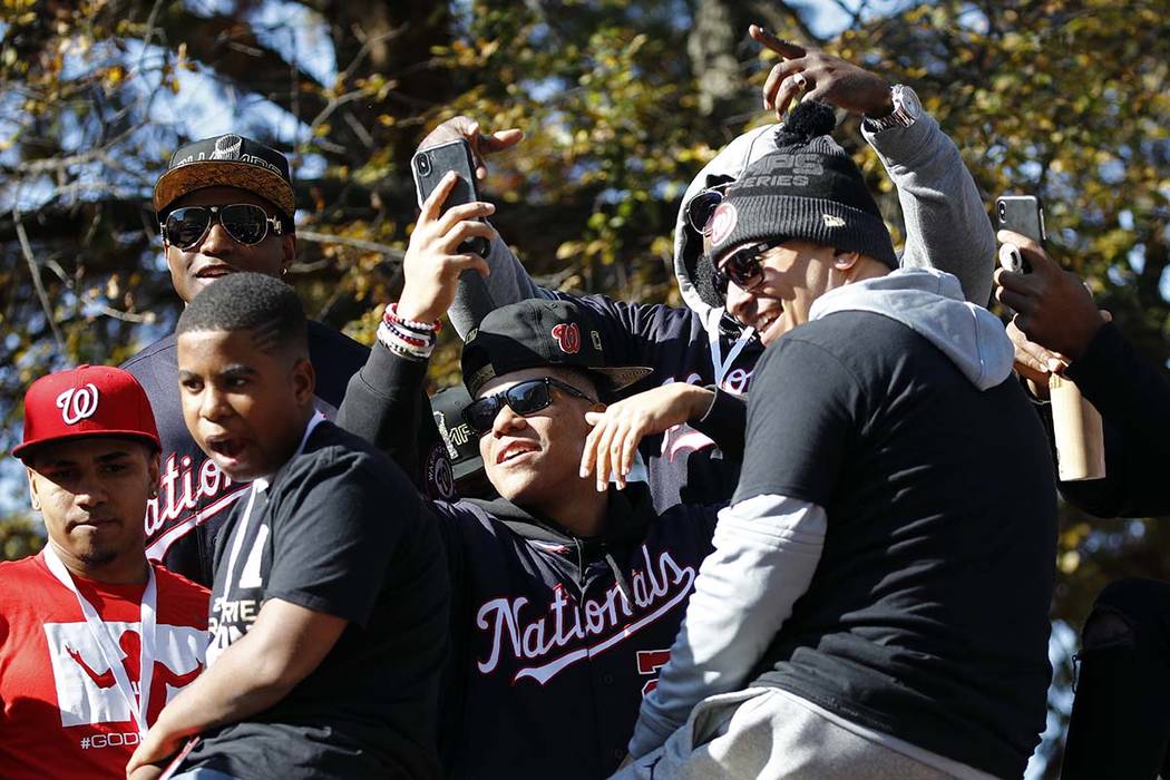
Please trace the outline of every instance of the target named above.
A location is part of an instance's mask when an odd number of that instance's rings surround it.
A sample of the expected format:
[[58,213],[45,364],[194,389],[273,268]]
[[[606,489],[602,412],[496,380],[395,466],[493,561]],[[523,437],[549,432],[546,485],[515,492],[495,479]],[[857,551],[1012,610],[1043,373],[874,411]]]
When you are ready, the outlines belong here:
[[449,584],[406,476],[322,421],[267,489],[236,503],[215,552],[209,665],[268,599],[349,623],[283,699],[204,734],[184,766],[243,780],[436,776]]

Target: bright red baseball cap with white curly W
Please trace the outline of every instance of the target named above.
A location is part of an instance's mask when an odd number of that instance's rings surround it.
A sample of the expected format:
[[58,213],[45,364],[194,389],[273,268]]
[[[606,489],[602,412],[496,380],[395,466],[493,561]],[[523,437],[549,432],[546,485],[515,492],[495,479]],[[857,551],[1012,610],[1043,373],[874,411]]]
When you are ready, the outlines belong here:
[[19,458],[41,444],[82,436],[125,436],[163,449],[146,391],[111,366],[78,366],[41,377],[25,393],[25,440]]

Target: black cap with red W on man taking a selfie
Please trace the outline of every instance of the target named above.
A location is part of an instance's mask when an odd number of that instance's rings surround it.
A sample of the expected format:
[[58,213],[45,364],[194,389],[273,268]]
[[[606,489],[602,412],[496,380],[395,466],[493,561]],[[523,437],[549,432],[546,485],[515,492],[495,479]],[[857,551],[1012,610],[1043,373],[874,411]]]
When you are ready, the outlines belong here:
[[472,398],[491,379],[525,368],[580,368],[610,391],[629,387],[652,373],[645,366],[608,365],[601,331],[585,308],[535,298],[488,312],[468,332],[462,364]]

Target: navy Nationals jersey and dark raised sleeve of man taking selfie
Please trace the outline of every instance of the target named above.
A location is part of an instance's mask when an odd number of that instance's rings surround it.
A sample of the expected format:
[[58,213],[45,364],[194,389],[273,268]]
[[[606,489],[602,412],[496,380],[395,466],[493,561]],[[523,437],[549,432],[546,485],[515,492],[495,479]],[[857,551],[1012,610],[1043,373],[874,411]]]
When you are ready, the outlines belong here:
[[[417,474],[426,365],[376,344],[338,423]],[[604,538],[504,499],[433,502],[452,577],[440,750],[457,778],[601,778],[626,754],[642,696],[711,550],[716,509],[655,512],[645,484],[610,491]]]

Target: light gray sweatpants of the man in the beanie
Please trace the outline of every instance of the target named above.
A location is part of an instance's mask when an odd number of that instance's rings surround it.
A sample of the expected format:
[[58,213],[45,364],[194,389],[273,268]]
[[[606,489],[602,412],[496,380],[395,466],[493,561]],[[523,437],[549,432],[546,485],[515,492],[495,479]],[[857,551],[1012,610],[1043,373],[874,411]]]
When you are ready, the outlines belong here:
[[[923,762],[834,723],[775,688],[700,702],[659,750],[614,780],[982,780],[991,775],[913,746]],[[896,741],[896,740],[895,740]]]

